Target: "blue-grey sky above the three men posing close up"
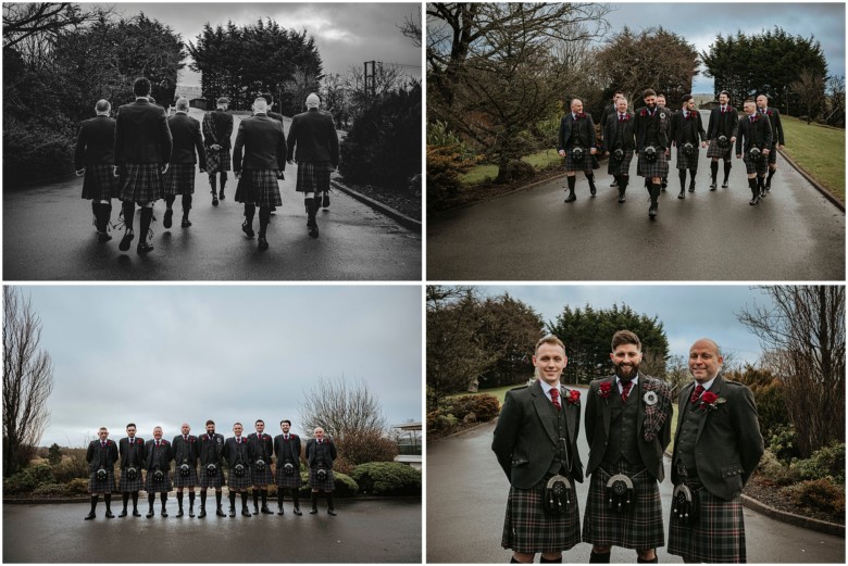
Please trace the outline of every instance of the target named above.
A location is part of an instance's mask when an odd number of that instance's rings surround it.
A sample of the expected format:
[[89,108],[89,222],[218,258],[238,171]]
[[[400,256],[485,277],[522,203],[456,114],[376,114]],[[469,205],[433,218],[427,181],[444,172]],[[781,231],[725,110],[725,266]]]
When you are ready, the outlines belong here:
[[[756,363],[760,342],[736,318],[743,309],[770,305],[759,288],[748,286],[662,286],[662,285],[575,285],[575,286],[481,286],[488,295],[508,291],[539,313],[546,323],[554,322],[565,305],[572,310],[610,309],[626,304],[634,312],[657,316],[669,339],[669,353],[688,357],[689,347],[699,338],[712,338],[738,362]],[[612,339],[612,337],[610,337]],[[568,353],[569,344],[565,344]]]

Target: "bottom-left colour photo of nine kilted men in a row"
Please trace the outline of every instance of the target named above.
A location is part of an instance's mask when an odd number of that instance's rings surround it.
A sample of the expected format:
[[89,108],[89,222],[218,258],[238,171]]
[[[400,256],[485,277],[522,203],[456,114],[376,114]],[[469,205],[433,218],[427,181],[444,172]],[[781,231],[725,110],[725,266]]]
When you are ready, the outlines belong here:
[[3,562],[420,564],[421,343],[419,286],[4,287]]

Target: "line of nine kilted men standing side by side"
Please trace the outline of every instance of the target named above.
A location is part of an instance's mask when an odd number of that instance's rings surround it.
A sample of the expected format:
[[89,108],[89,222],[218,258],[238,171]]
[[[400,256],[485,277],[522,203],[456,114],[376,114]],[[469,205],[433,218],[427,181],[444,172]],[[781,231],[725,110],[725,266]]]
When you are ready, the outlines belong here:
[[[300,463],[305,462],[309,469],[309,483],[312,488],[312,510],[310,514],[317,513],[319,493],[323,492],[327,500],[327,513],[336,515],[333,504],[333,489],[335,487],[333,476],[333,462],[337,457],[336,444],[326,438],[324,429],[315,428],[314,438],[302,450],[300,437],[290,432],[291,422],[280,420],[283,433],[271,437],[265,433],[265,423],[262,419],[255,422],[255,432],[242,436],[241,423],[233,426],[234,436],[224,439],[223,435],[215,432],[215,423],[207,420],[207,432],[199,437],[190,433],[191,427],[184,423],[182,433],[169,442],[162,438],[162,428],[153,429],[153,439],[145,442],[136,436],[136,425],[126,426],[126,438],[115,443],[109,439],[109,430],[105,427],[98,431],[99,440],[88,445],[86,462],[88,462],[90,477],[88,491],[91,494],[91,511],[85,517],[86,520],[96,517],[95,508],[100,494],[105,501],[105,516],[113,518],[111,508],[112,491],[115,489],[114,467],[120,460],[121,478],[117,489],[123,494],[124,508],[119,515],[127,516],[127,504],[133,500],[133,516],[140,517],[138,513],[138,492],[145,490],[148,493],[149,510],[147,517],[153,516],[155,494],[161,494],[161,515],[167,517],[165,505],[167,493],[176,488],[177,504],[183,513],[183,491],[188,488],[188,515],[195,516],[195,487],[200,487],[200,514],[207,516],[207,490],[215,490],[216,515],[225,517],[221,507],[222,488],[224,485],[229,491],[229,516],[236,516],[236,494],[241,493],[241,515],[250,517],[248,511],[249,488],[253,495],[253,514],[273,514],[267,506],[267,487],[272,483],[277,487],[277,515],[283,515],[283,499],[286,490],[291,492],[295,515],[302,515],[300,511],[300,493],[302,486],[300,477]],[[276,458],[276,460],[274,460]],[[173,471],[172,471],[173,462]],[[272,475],[272,464],[276,462],[275,474]],[[198,469],[199,466],[199,469]],[[227,469],[226,478],[224,469]],[[144,471],[144,476],[142,476]],[[259,499],[261,496],[261,508]]]

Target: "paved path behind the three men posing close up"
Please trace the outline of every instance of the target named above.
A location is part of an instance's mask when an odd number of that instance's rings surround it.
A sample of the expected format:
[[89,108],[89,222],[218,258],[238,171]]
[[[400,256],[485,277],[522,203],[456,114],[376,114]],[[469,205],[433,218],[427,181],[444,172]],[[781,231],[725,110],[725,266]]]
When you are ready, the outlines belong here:
[[[495,423],[458,437],[427,444],[427,562],[509,563],[511,551],[500,546],[509,481],[491,452]],[[588,444],[581,429],[581,457],[588,460]],[[660,483],[668,540],[672,486]],[[588,480],[577,483],[581,525]],[[745,510],[748,562],[844,563],[845,539],[793,527]],[[588,563],[591,545],[581,543],[563,554],[565,563]],[[657,552],[660,562],[683,562]],[[537,557],[538,559],[538,557]],[[635,563],[635,551],[613,548],[612,562]]]

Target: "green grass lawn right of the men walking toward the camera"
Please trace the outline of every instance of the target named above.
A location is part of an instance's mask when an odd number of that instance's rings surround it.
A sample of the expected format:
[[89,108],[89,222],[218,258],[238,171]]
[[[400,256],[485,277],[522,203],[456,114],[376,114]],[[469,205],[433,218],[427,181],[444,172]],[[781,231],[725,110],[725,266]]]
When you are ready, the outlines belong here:
[[[823,187],[845,204],[845,130],[798,118],[781,116],[784,151]],[[777,175],[781,174],[780,159]]]

